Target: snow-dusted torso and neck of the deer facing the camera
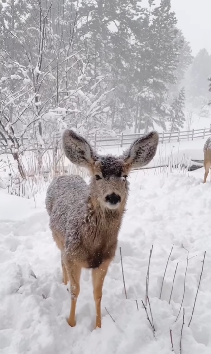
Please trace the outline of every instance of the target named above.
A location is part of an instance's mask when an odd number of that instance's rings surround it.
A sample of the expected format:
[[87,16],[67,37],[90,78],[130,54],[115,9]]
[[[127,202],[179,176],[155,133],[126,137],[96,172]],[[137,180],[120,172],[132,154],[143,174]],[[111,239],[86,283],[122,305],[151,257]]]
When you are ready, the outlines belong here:
[[58,247],[62,238],[67,259],[85,268],[97,268],[115,256],[125,207],[124,203],[120,210],[106,210],[95,203],[92,188],[75,175],[55,177],[46,197],[50,228],[59,235]]

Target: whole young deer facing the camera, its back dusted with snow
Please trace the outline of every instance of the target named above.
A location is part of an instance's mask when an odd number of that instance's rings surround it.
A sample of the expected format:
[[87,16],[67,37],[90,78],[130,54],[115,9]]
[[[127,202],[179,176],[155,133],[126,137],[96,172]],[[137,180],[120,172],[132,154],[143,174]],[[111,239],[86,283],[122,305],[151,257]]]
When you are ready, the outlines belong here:
[[100,156],[73,130],[62,136],[66,157],[86,167],[90,184],[76,175],[55,177],[48,187],[46,208],[53,239],[61,250],[63,282],[70,281],[71,310],[68,324],[75,326],[82,268],[92,269],[96,327],[101,327],[102,287],[115,256],[119,228],[128,197],[131,169],[154,157],[159,135],[150,132],[131,144],[122,156]]

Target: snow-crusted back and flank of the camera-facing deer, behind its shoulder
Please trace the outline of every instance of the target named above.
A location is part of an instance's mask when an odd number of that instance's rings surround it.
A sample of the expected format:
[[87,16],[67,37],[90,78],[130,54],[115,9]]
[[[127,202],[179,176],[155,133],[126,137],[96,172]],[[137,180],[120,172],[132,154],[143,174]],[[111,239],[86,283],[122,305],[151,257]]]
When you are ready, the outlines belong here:
[[77,231],[88,197],[88,188],[82,177],[55,177],[48,187],[46,209],[50,216],[50,228],[65,237],[68,231]]

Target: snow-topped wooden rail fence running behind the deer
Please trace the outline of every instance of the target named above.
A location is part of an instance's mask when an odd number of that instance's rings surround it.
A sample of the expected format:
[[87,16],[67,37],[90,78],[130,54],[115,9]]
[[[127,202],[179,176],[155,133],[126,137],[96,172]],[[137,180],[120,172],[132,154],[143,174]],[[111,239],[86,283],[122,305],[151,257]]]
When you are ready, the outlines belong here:
[[[117,134],[115,136],[100,136],[95,135],[87,137],[89,141],[91,141],[96,148],[98,147],[108,147],[108,148],[113,148],[113,147],[124,147],[127,145],[130,145],[136,138],[142,137],[144,134],[142,133],[130,133],[130,134]],[[197,138],[206,138],[208,136],[211,136],[211,131],[210,128],[204,128],[204,129],[192,129],[192,130],[186,130],[186,131],[177,131],[177,132],[162,132],[159,133],[160,137],[160,143],[168,143],[168,142],[173,142],[173,141],[183,141],[183,140],[194,140]],[[28,140],[27,138],[22,139],[22,143],[24,144],[24,140]],[[0,139],[0,154],[5,153],[5,146],[3,146],[3,139]],[[51,150],[53,147],[49,147],[49,150]],[[30,150],[36,150],[36,149],[30,149]]]

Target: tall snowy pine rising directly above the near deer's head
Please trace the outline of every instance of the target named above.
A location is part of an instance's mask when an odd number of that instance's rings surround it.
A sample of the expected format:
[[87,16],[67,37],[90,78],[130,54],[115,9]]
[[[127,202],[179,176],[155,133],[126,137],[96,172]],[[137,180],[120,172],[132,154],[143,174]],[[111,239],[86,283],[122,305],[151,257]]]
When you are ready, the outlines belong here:
[[[78,10],[78,21],[83,19],[83,26],[77,30],[78,43],[86,45],[94,75],[109,74],[107,87],[115,88],[107,97],[112,128],[124,129],[131,117],[128,112],[133,106],[131,39],[135,29],[134,14],[137,16],[141,11],[137,0],[124,3],[121,0],[82,0]],[[102,83],[96,91],[104,87]]]

